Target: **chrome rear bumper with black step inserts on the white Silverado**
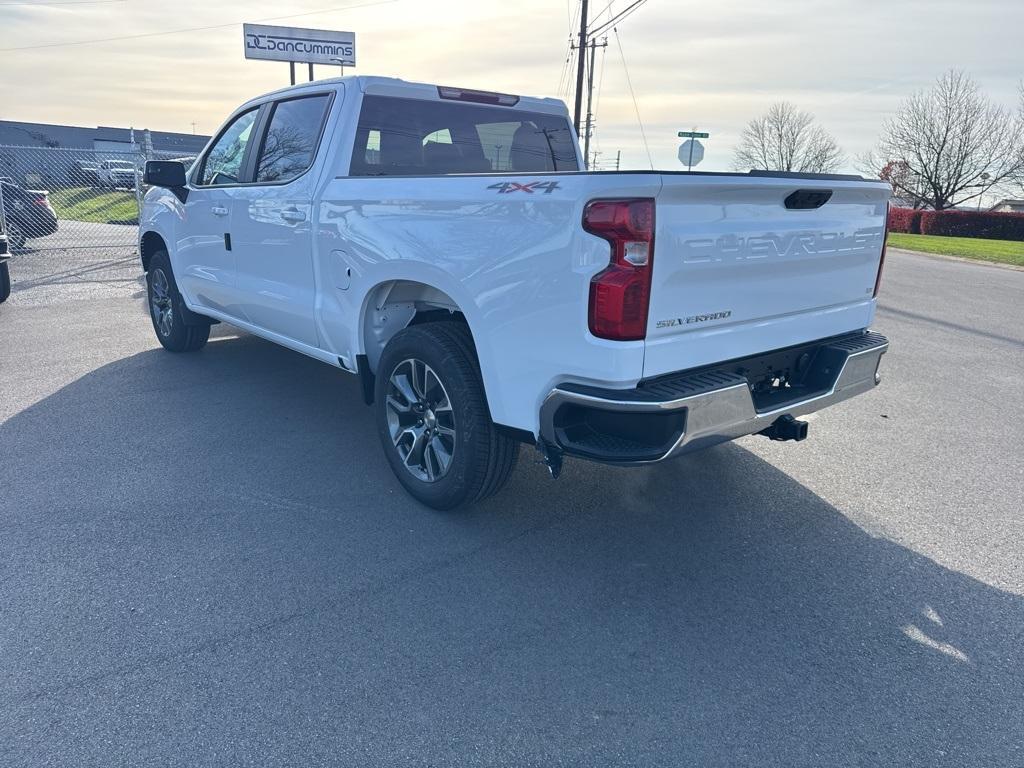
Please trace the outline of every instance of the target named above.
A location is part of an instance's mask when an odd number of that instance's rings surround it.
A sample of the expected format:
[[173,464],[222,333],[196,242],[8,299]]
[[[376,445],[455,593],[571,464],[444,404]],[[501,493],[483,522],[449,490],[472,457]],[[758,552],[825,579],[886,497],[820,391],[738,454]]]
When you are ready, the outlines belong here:
[[[866,392],[881,380],[879,362],[888,348],[884,336],[860,332],[630,390],[562,385],[541,408],[541,437],[549,450],[610,464],[664,461]],[[765,388],[765,371],[769,384],[777,372],[790,385]]]

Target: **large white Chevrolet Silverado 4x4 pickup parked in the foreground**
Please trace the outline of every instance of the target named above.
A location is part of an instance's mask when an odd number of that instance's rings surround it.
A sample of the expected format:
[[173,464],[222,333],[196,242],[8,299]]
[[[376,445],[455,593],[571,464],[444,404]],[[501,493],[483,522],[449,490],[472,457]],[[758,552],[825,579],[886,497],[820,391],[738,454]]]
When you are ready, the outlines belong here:
[[871,389],[889,186],[583,172],[565,105],[373,77],[243,104],[154,162],[139,253],[171,351],[231,324],[360,377],[401,484],[438,509],[521,442],[639,465]]

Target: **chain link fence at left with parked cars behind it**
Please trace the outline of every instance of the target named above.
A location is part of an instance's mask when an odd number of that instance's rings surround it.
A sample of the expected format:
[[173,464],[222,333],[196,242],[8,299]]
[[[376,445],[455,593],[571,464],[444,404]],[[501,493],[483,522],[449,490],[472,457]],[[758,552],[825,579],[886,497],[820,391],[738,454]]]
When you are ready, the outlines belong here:
[[0,228],[17,253],[133,249],[147,160],[195,158],[0,145]]

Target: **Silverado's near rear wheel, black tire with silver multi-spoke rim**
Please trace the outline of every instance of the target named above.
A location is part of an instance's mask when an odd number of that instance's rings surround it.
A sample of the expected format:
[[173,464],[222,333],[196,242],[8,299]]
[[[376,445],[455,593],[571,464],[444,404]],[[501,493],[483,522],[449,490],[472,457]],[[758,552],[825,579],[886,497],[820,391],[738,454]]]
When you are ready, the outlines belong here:
[[[421,400],[427,404],[419,411],[402,395],[408,387],[394,383],[402,377],[409,380],[407,374],[417,362],[427,367],[423,386],[413,386],[412,394],[418,396],[420,390],[426,393]],[[433,379],[428,379],[427,370]],[[384,348],[376,379],[374,407],[384,455],[398,481],[417,501],[433,509],[455,509],[497,494],[505,485],[519,457],[519,443],[499,432],[490,420],[476,352],[465,326],[428,323],[399,331]],[[435,385],[427,383],[434,379]],[[444,401],[450,409],[443,407]],[[404,409],[407,404],[410,409]],[[417,423],[421,416],[424,419]],[[403,419],[411,423],[407,426]],[[427,428],[431,425],[436,425],[432,438]],[[417,429],[426,430],[423,443]],[[452,432],[454,442],[446,442],[438,430]],[[422,446],[419,453],[417,445]],[[444,471],[438,471],[446,451],[450,463]],[[416,456],[422,456],[422,462]],[[411,461],[407,463],[407,459]],[[433,479],[429,477],[431,464]]]

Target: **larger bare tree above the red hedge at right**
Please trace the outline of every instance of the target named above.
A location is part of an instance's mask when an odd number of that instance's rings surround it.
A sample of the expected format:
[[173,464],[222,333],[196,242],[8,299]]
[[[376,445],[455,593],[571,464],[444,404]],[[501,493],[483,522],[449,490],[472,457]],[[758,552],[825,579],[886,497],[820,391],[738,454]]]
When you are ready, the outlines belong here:
[[[1015,116],[951,70],[900,105],[860,164],[914,207],[963,205],[1024,173],[1024,106]],[[885,173],[893,168],[899,173]]]

